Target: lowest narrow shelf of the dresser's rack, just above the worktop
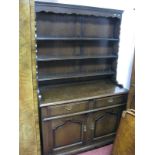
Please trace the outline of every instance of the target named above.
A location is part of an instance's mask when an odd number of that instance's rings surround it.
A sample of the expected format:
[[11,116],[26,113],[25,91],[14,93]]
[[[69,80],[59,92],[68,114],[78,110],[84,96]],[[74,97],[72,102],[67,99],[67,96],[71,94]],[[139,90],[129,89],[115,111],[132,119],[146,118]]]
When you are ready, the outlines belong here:
[[60,79],[72,79],[72,78],[82,78],[82,77],[91,77],[91,76],[104,76],[104,75],[114,75],[115,72],[113,71],[106,71],[106,72],[94,72],[94,73],[70,73],[64,75],[49,75],[49,76],[39,76],[38,81],[51,81],[51,80],[60,80]]

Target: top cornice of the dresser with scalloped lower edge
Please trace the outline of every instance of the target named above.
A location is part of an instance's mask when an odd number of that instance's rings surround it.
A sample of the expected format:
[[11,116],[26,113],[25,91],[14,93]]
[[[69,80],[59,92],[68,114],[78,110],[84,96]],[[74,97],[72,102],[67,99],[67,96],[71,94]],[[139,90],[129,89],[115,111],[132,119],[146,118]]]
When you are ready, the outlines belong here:
[[96,8],[88,6],[67,5],[51,2],[36,2],[35,11],[38,12],[52,12],[62,14],[78,14],[78,15],[93,15],[103,17],[121,18],[122,10]]

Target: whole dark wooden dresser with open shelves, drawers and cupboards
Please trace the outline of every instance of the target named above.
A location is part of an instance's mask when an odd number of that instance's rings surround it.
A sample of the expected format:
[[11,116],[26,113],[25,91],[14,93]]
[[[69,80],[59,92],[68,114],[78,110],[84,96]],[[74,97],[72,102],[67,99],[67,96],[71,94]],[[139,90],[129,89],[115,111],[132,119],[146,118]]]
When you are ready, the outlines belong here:
[[35,3],[42,154],[112,143],[128,90],[116,82],[122,11]]

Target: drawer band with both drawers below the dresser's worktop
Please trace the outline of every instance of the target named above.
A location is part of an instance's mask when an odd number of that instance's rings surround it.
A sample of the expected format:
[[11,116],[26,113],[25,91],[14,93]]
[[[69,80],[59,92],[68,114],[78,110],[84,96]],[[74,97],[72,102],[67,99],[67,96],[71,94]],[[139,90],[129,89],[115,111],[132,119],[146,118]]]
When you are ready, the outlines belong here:
[[[72,102],[66,104],[52,104],[42,108],[43,120],[56,119],[57,117],[66,117],[69,115],[80,115],[82,113],[91,113],[101,111],[103,109],[119,107],[124,105],[127,100],[127,95],[117,95],[110,97],[93,98],[81,102]],[[60,116],[59,116],[60,115]],[[56,117],[54,117],[56,116]],[[50,117],[50,118],[49,118]]]

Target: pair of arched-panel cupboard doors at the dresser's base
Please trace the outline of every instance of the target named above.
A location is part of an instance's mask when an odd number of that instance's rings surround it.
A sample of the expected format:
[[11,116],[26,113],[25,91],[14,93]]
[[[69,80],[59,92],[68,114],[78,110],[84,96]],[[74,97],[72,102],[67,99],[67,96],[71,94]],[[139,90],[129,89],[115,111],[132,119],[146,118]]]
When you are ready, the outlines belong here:
[[[115,135],[124,105],[78,116],[43,121],[44,154],[58,154],[66,149],[80,149],[83,145],[105,140]],[[69,133],[69,135],[68,135]],[[52,150],[50,150],[52,149]],[[63,154],[63,153],[62,153]]]

